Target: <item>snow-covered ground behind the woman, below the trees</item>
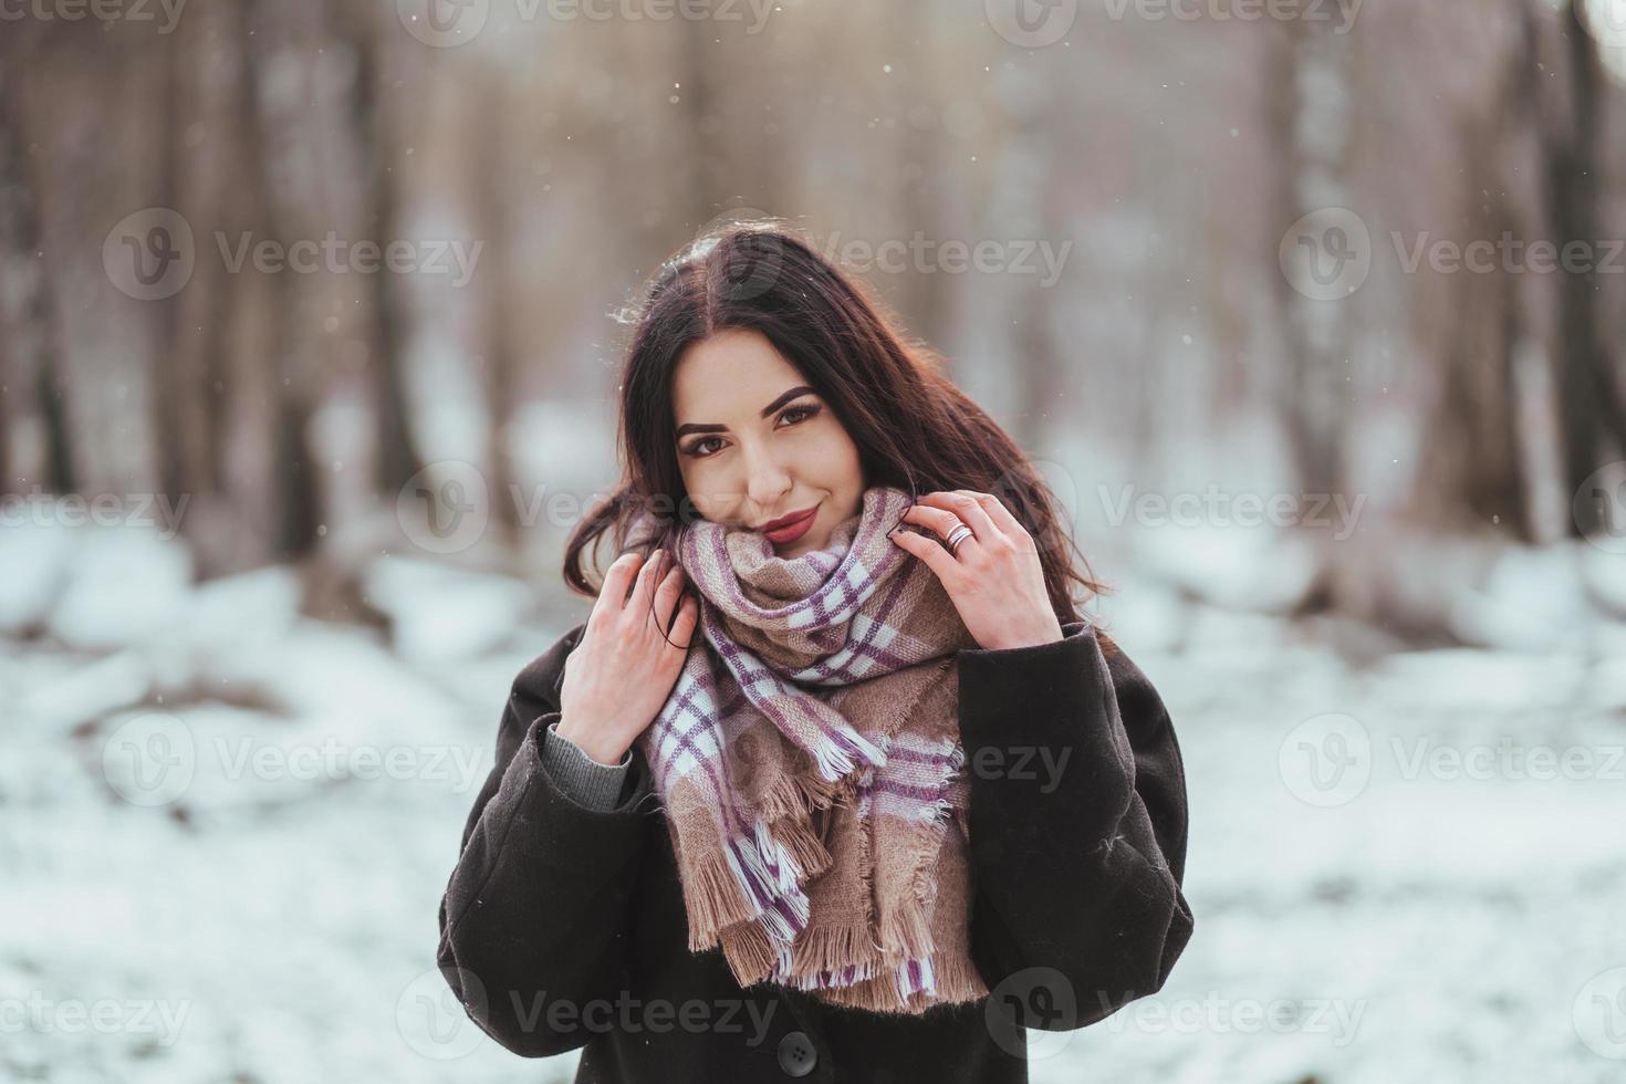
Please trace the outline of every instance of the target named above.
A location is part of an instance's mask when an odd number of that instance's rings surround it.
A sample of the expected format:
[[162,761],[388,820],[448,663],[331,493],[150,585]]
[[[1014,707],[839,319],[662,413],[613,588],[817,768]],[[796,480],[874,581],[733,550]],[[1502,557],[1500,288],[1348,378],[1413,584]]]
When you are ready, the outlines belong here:
[[[507,686],[576,611],[380,559],[385,635],[128,530],[8,528],[0,566],[0,1079],[569,1079],[467,1022],[434,944]],[[1161,993],[1036,1037],[1036,1081],[1626,1079],[1619,626],[1354,666],[1114,579],[1197,934]]]

